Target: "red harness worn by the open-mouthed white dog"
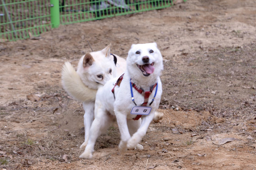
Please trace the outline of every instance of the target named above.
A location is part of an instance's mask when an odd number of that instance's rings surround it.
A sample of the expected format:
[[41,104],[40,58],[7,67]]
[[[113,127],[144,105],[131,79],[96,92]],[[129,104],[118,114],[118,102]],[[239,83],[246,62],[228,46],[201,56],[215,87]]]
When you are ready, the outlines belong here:
[[[114,87],[113,87],[113,89],[112,89],[112,93],[113,93],[113,95],[114,95],[114,99],[116,99],[116,98],[115,98],[115,87],[116,87],[117,85],[120,86],[122,80],[123,80],[123,74],[117,79],[117,82],[116,82],[116,84],[114,85]],[[141,106],[147,106],[147,105],[148,105],[148,101],[149,101],[149,96],[151,95],[152,91],[153,91],[153,90],[155,89],[155,87],[156,87],[155,95],[154,95],[152,101],[149,103],[149,106],[151,106],[151,104],[152,104],[152,103],[154,102],[154,100],[155,100],[155,96],[156,96],[156,93],[157,93],[157,86],[158,86],[157,83],[156,83],[155,85],[152,85],[152,86],[150,87],[150,91],[144,91],[142,88],[139,89],[134,83],[132,83],[131,80],[132,80],[132,79],[130,79],[131,96],[132,96],[132,101],[133,101],[133,103],[135,104],[135,106],[137,106],[137,104],[136,104],[135,101],[134,101],[134,97],[133,97],[133,88],[134,88],[135,90],[137,90],[137,91],[139,92],[139,94],[144,95],[144,102],[141,104]],[[133,120],[139,120],[139,118],[140,118],[141,116],[142,116],[142,115],[137,115],[136,117],[133,118]]]

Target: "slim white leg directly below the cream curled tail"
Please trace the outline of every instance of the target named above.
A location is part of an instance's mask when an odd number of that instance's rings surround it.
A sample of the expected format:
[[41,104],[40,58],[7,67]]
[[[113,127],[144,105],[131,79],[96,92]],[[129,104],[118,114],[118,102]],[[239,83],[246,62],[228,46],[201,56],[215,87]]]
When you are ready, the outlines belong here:
[[91,123],[94,118],[94,102],[83,103],[83,107],[85,110],[85,114],[84,114],[85,142],[81,144],[80,149],[84,148],[88,143]]

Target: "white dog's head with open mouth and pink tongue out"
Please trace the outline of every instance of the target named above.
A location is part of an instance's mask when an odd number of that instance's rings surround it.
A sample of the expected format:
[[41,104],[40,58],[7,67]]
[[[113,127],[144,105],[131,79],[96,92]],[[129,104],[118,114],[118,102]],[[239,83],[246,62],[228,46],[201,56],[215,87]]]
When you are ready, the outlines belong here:
[[156,43],[133,44],[128,52],[127,68],[134,76],[159,76],[163,69],[163,58]]

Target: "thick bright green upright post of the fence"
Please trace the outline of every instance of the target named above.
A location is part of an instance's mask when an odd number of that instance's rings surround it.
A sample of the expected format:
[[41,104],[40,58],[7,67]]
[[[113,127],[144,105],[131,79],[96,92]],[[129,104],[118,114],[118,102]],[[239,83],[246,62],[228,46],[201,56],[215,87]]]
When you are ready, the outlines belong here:
[[59,27],[59,0],[50,0],[51,23],[53,28]]

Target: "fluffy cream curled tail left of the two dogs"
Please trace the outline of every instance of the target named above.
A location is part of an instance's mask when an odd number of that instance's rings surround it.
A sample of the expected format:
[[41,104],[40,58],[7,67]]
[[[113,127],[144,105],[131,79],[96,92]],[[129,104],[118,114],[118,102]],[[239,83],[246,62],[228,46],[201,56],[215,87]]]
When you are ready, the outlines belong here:
[[88,88],[69,62],[65,62],[61,74],[62,86],[69,96],[81,102],[95,101],[97,90]]

